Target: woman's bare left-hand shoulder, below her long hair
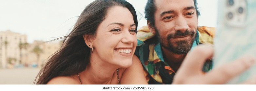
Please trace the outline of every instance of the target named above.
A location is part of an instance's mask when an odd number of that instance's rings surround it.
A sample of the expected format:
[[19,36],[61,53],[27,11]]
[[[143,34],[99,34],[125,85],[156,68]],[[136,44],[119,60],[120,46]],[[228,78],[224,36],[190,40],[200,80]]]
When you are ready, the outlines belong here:
[[48,85],[77,85],[81,84],[77,75],[57,76],[52,78]]

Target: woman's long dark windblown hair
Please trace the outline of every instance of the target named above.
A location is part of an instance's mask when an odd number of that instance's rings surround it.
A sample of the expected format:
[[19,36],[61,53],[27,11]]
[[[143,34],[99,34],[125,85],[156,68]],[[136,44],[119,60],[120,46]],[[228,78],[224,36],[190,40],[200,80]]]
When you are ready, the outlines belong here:
[[[90,48],[85,44],[83,35],[96,37],[99,24],[105,19],[110,7],[123,6],[133,16],[136,30],[138,26],[134,7],[125,0],[95,0],[79,16],[74,29],[64,38],[61,49],[54,53],[37,74],[33,84],[47,84],[56,76],[67,76],[80,73],[89,64]],[[58,38],[58,39],[61,39]],[[57,39],[55,39],[57,40]]]

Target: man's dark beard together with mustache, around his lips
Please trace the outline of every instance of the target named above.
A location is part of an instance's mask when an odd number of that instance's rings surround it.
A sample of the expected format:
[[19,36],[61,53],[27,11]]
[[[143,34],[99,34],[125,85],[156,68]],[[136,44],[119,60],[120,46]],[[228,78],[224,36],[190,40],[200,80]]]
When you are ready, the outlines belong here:
[[[168,49],[169,51],[175,53],[175,54],[187,54],[189,52],[189,50],[191,49],[194,40],[195,40],[195,32],[194,31],[188,31],[186,30],[185,32],[181,32],[181,31],[177,31],[175,32],[175,34],[169,34],[167,36],[167,46],[164,45],[164,40],[160,37],[159,33],[158,33],[158,29],[154,28],[156,30],[156,34],[157,34],[157,38],[160,41],[161,46],[163,46],[164,48]],[[179,37],[179,36],[192,36],[192,39],[190,40],[191,43],[189,43],[188,40],[184,40],[184,41],[177,41],[175,42],[176,46],[174,44],[171,43],[171,41],[169,39],[171,39],[172,37]]]

